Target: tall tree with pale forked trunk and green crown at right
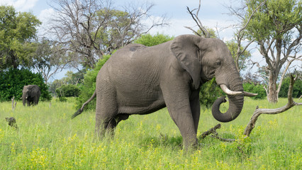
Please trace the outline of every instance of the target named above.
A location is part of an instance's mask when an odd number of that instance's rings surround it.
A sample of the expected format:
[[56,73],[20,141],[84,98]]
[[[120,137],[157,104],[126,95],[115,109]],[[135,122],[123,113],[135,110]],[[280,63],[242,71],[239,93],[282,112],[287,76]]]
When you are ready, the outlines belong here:
[[[246,21],[262,2],[262,0],[246,1]],[[268,82],[266,88],[268,101],[276,103],[286,71],[294,60],[301,60],[302,57],[302,1],[265,1],[255,12],[246,29],[247,38],[257,42],[258,50],[266,61],[262,69],[268,73],[267,77],[264,77]],[[257,62],[255,64],[259,66]],[[277,87],[280,70],[285,64]]]

